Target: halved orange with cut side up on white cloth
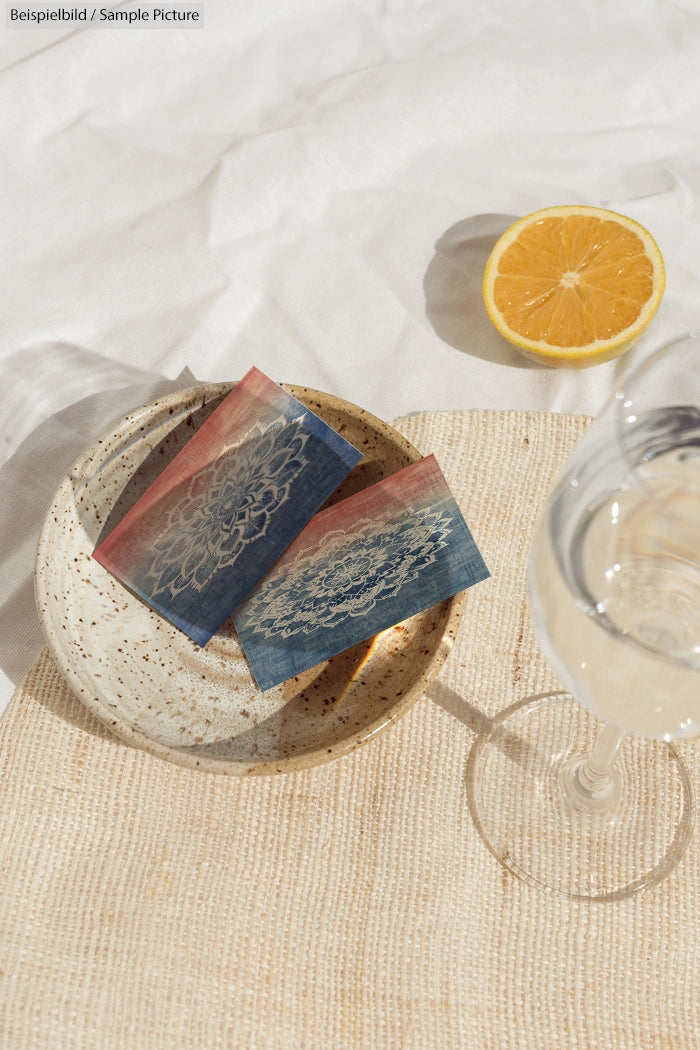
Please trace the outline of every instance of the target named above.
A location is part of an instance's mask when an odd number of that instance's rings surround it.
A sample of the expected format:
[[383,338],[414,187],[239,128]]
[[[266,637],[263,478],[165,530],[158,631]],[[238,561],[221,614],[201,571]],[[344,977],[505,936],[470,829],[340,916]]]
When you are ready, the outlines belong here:
[[519,351],[582,368],[636,342],[664,288],[661,252],[643,226],[606,208],[563,205],[506,230],[483,292],[492,322]]

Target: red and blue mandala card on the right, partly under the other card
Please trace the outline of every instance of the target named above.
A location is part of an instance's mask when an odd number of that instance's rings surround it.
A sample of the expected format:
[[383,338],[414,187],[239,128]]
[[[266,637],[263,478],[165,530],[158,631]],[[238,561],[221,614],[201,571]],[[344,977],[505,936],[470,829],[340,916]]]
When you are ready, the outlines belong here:
[[488,575],[428,456],[316,514],[233,623],[266,690]]

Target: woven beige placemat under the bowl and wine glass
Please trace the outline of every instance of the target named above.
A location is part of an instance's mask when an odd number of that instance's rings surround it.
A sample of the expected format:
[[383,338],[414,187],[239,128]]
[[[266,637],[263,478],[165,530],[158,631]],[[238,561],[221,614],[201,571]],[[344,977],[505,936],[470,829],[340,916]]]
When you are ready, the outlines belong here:
[[[0,727],[2,1050],[700,1047],[700,836],[656,890],[580,904],[501,868],[467,806],[475,734],[556,686],[526,555],[584,427],[401,421],[492,579],[428,695],[328,765],[169,765],[109,735],[41,654]],[[684,746],[696,782],[699,752]]]

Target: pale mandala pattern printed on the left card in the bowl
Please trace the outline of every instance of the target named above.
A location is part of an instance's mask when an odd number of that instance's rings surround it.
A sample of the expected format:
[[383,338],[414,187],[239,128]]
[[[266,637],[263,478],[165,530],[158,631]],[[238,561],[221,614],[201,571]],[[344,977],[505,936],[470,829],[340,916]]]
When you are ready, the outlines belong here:
[[264,536],[274,514],[309,464],[303,416],[257,423],[241,441],[188,479],[152,544],[146,582],[151,594],[173,597],[203,590],[251,543]]

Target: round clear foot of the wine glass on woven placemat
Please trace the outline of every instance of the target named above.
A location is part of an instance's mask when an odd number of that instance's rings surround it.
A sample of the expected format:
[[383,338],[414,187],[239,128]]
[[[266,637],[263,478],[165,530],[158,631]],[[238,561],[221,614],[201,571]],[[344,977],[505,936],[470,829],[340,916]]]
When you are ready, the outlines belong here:
[[493,719],[469,758],[472,818],[494,857],[526,882],[614,901],[660,882],[695,823],[691,780],[670,743],[627,736],[609,799],[588,810],[563,788],[600,730],[567,693],[523,700]]

